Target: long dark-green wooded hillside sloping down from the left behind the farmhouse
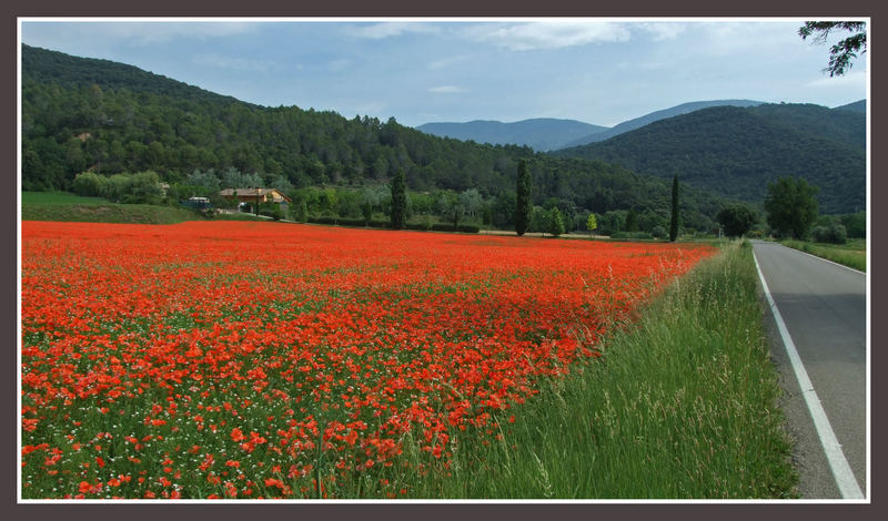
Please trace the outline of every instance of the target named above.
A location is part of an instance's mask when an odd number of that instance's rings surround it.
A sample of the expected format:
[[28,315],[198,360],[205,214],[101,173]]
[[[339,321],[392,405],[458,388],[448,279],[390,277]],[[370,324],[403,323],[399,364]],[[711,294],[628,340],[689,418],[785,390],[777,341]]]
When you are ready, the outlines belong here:
[[[23,190],[64,190],[83,171],[154,171],[175,184],[209,175],[204,186],[239,178],[228,175],[236,171],[295,190],[382,184],[403,168],[412,191],[474,188],[508,212],[517,162],[526,159],[535,204],[576,216],[634,207],[648,223],[668,217],[668,183],[598,161],[436,137],[394,119],[248,104],[129,65],[28,45],[21,81]],[[684,223],[706,229],[719,198],[692,187],[683,197]]]

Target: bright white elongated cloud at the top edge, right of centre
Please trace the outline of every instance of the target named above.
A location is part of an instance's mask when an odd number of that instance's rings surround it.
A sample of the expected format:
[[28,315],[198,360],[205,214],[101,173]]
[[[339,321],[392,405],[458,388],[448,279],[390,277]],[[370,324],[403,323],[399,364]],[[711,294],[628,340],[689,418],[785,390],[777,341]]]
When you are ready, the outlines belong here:
[[545,21],[511,25],[487,25],[472,30],[476,39],[512,51],[563,49],[594,42],[629,40],[625,24],[597,21]]

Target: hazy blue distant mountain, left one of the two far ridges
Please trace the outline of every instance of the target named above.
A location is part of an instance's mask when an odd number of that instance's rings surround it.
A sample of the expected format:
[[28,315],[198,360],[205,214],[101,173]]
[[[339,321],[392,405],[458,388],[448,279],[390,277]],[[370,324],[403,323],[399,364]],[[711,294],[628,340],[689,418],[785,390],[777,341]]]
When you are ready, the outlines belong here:
[[545,152],[563,149],[577,137],[603,132],[607,127],[575,120],[537,118],[514,123],[500,121],[425,123],[416,130],[426,134],[478,143],[527,145],[535,151]]

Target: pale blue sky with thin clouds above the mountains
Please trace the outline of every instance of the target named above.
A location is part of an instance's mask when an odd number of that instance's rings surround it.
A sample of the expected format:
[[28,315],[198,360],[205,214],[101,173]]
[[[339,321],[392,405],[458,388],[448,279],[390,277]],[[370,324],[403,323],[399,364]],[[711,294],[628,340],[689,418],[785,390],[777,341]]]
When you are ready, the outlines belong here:
[[[265,106],[428,122],[613,126],[692,101],[838,106],[867,54],[823,72],[804,19],[20,19],[20,41]],[[846,33],[847,34],[847,33]]]

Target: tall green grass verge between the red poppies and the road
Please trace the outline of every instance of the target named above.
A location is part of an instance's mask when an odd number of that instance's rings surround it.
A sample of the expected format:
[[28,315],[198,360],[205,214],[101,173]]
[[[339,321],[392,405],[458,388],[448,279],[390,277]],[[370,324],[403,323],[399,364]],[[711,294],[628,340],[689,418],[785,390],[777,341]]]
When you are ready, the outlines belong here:
[[[604,356],[466,433],[417,498],[791,498],[748,243],[730,243],[604,343]],[[408,453],[408,451],[407,451]]]

